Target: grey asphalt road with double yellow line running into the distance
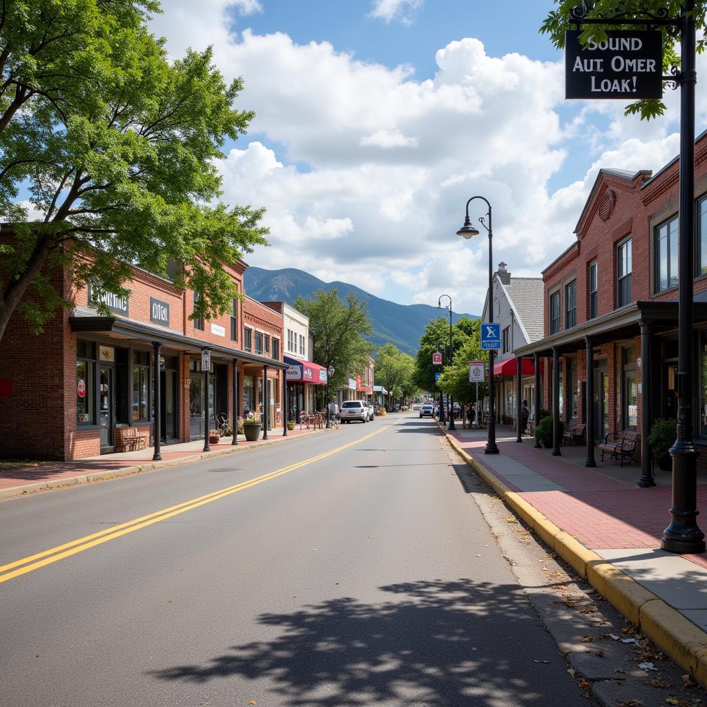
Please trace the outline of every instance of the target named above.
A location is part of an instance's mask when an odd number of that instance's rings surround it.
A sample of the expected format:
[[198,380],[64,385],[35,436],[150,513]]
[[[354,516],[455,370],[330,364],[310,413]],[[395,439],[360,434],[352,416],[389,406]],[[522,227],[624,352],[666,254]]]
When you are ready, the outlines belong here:
[[587,703],[414,415],[4,501],[0,538],[3,706]]

